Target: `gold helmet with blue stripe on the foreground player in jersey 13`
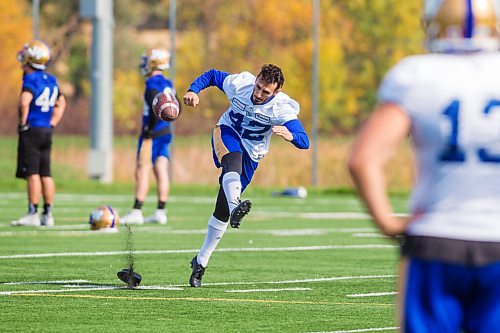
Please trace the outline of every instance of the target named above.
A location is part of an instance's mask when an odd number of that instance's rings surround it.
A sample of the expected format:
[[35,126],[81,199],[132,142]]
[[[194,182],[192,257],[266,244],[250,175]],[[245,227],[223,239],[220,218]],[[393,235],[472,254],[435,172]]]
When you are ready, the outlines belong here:
[[426,0],[424,24],[431,52],[500,48],[500,0]]

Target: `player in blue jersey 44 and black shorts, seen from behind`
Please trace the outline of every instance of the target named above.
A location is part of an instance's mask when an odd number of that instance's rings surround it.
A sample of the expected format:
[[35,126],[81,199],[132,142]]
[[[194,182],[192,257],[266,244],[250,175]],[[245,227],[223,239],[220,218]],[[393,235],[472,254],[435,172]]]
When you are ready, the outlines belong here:
[[[64,114],[66,99],[59,91],[56,78],[45,72],[51,52],[44,42],[29,42],[19,51],[17,59],[22,65],[23,83],[19,98],[16,177],[28,183],[28,214],[11,224],[53,226],[52,132]],[[38,216],[40,194],[44,200],[41,220]]]

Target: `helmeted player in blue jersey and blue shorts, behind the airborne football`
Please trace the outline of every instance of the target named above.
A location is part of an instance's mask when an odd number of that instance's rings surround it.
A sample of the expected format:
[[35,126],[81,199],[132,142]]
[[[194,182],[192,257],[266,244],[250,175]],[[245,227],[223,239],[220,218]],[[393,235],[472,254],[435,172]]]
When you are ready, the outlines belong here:
[[[172,133],[170,122],[156,118],[152,103],[159,92],[175,95],[172,82],[163,75],[163,71],[170,67],[169,64],[170,53],[164,49],[149,49],[141,57],[140,70],[146,78],[146,88],[142,129],[137,143],[135,202],[133,208],[120,219],[122,224],[167,223],[166,205],[170,190],[168,161]],[[158,203],[153,215],[144,218],[142,205],[148,194],[151,169],[156,178]]]

